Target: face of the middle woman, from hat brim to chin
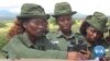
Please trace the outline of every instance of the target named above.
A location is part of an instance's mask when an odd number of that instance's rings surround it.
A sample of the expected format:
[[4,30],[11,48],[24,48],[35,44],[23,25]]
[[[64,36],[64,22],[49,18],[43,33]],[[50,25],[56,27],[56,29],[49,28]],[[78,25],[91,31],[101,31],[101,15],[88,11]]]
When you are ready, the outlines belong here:
[[68,32],[72,28],[72,16],[59,16],[57,17],[57,24],[61,30]]

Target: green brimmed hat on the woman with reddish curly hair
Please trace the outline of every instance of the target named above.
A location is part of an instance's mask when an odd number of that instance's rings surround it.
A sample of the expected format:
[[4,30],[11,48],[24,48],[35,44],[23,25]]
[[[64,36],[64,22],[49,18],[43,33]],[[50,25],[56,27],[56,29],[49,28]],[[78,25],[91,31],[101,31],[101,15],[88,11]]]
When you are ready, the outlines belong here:
[[44,17],[48,19],[50,15],[45,14],[44,9],[34,3],[24,3],[21,8],[21,13],[16,17]]

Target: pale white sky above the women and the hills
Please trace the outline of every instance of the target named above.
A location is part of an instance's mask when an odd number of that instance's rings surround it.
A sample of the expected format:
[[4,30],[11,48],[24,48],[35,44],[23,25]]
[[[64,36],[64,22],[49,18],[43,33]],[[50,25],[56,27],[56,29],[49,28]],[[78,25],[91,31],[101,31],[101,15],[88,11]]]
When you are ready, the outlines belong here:
[[42,5],[46,13],[53,13],[55,3],[64,1],[70,3],[73,11],[81,14],[99,11],[110,15],[110,0],[0,0],[0,10],[20,13],[23,3],[36,3]]

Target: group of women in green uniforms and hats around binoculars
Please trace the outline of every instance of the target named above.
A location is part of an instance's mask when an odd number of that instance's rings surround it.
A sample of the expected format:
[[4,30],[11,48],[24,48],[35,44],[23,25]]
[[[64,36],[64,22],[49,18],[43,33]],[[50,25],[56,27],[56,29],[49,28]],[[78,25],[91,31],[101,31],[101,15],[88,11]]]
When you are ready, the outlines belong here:
[[68,2],[56,3],[52,16],[59,29],[51,33],[47,28],[51,15],[38,4],[24,3],[14,26],[9,30],[10,41],[2,48],[6,58],[91,60],[95,59],[94,47],[100,45],[106,48],[103,60],[110,59],[110,41],[103,37],[108,17],[95,12],[82,21],[80,33],[74,33],[74,14],[76,11]]

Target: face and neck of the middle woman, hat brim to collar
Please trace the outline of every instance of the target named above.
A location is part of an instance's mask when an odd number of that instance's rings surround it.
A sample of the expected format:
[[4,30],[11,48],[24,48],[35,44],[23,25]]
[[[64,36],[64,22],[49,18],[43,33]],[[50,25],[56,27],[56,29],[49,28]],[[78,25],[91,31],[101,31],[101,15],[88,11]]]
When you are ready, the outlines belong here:
[[59,29],[64,34],[64,36],[69,37],[72,34],[72,16],[65,15],[65,16],[58,16],[57,24],[59,26]]

